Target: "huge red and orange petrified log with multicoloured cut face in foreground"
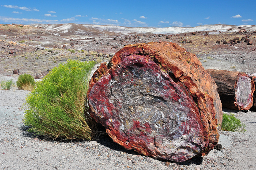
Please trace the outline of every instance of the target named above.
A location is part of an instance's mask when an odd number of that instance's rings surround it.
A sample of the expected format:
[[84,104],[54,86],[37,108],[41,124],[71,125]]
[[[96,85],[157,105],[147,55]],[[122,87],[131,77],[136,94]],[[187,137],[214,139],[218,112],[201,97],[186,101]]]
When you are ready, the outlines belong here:
[[145,156],[182,162],[218,143],[217,86],[175,43],[125,46],[94,72],[87,98],[113,141]]

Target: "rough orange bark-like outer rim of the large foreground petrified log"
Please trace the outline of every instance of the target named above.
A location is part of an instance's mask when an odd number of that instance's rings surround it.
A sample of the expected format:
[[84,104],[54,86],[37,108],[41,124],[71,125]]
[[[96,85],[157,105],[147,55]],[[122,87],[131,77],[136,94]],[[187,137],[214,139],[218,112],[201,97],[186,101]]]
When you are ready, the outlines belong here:
[[[159,49],[163,50],[159,51]],[[195,54],[187,52],[178,44],[170,42],[151,42],[147,44],[139,43],[125,46],[118,51],[113,58],[111,58],[108,65],[106,63],[102,63],[100,68],[94,72],[87,94],[90,93],[93,85],[98,82],[100,77],[104,75],[109,68],[113,65],[118,65],[123,58],[131,54],[141,54],[151,57],[155,63],[165,70],[172,79],[174,79],[174,81],[180,83],[180,85],[186,88],[192,95],[200,109],[200,117],[202,119],[203,126],[206,128],[205,137],[209,145],[202,151],[202,155],[207,154],[218,143],[218,130],[222,123],[222,104],[217,93],[217,86],[211,78],[210,73],[203,68]],[[178,57],[175,58],[175,56]],[[184,60],[186,62],[184,62]],[[177,65],[182,69],[179,69]],[[192,72],[188,72],[188,69]],[[200,72],[201,76],[194,77],[194,72]],[[205,83],[208,83],[210,86],[201,86]],[[94,111],[91,110],[91,112]],[[91,115],[99,122],[97,116],[93,113]]]

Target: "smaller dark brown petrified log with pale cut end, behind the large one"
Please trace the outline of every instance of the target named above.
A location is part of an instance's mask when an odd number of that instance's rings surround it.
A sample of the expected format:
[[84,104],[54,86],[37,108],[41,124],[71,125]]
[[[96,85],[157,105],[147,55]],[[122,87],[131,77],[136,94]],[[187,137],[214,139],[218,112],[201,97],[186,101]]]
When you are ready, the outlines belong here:
[[253,105],[255,91],[252,77],[244,72],[207,69],[215,80],[222,106],[236,110],[248,110]]

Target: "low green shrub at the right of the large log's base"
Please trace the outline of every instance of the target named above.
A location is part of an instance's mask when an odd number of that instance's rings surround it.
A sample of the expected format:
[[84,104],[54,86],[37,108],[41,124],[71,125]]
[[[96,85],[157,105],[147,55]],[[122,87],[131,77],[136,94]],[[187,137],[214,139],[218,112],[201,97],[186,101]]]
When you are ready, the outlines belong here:
[[222,119],[222,130],[231,131],[231,132],[245,132],[245,124],[241,123],[233,114],[227,115],[223,114]]

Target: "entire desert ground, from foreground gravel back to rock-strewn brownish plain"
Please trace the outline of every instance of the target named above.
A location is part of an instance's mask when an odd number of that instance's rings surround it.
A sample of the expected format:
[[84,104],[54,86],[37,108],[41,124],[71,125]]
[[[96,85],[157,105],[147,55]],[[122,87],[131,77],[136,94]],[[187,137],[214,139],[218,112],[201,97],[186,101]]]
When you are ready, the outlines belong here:
[[[15,69],[19,69],[20,74],[26,72],[40,78],[68,59],[94,60],[98,63],[108,61],[126,44],[150,41],[180,44],[187,51],[196,54],[205,69],[256,73],[255,33],[187,33],[172,35],[166,39],[167,36],[169,35],[118,35],[107,38],[95,36],[85,41],[72,39],[75,35],[56,37],[49,31],[38,28],[0,26],[0,81],[12,79],[15,82],[19,76],[13,74]],[[253,44],[223,44],[224,40],[233,40],[234,37],[241,39],[243,36],[250,37]],[[185,39],[193,42],[181,43]],[[217,44],[217,40],[221,43]],[[67,49],[63,49],[63,44]],[[256,169],[256,112],[238,112],[223,108],[224,113],[232,113],[241,119],[246,125],[246,131],[220,131],[221,150],[213,149],[207,156],[193,158],[184,163],[173,163],[125,150],[109,137],[72,142],[35,137],[27,133],[23,125],[22,105],[27,94],[29,91],[18,90],[15,86],[11,90],[0,90],[0,169]]]

